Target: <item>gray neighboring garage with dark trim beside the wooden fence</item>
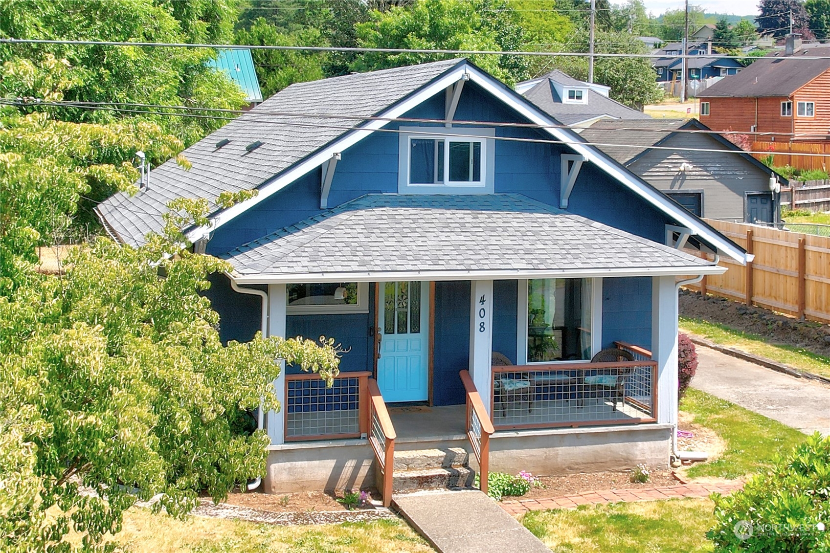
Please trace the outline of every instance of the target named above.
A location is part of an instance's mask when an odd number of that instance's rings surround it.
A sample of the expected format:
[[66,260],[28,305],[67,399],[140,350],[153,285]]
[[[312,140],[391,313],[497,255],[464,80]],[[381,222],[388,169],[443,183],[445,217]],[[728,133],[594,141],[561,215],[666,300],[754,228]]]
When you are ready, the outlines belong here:
[[[742,150],[709,130],[694,119],[606,120],[581,135],[592,143],[619,144],[598,148],[699,217],[777,222],[779,194],[770,183],[788,181],[749,154],[731,153]],[[695,151],[712,149],[722,151]]]

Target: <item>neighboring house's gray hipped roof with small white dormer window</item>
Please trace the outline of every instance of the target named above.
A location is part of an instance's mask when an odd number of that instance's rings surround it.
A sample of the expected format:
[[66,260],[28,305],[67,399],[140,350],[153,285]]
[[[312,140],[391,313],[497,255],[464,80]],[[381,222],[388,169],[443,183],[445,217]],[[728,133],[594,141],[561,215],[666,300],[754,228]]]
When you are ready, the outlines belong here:
[[565,125],[587,127],[603,119],[651,119],[609,98],[611,87],[579,81],[558,69],[518,83],[515,91]]

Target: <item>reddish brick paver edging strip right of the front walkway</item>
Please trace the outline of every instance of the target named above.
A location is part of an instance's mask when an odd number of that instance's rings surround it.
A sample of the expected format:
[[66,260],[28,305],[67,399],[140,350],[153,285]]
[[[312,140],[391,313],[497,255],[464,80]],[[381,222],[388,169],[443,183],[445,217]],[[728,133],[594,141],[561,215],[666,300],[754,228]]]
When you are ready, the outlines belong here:
[[706,484],[677,484],[676,486],[640,487],[628,490],[603,490],[600,492],[583,492],[569,496],[550,497],[548,499],[520,499],[500,502],[502,509],[513,516],[523,515],[527,511],[546,509],[574,509],[579,505],[598,505],[616,502],[648,502],[656,499],[675,497],[709,497],[713,492],[727,494],[740,490],[743,482],[724,481]]

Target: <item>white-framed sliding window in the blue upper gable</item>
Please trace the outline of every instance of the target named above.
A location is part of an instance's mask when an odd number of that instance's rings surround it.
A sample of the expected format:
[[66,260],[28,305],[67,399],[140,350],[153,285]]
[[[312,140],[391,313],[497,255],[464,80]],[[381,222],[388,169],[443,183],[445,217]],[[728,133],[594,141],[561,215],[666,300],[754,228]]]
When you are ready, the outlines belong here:
[[493,191],[496,131],[493,129],[402,127],[399,193]]

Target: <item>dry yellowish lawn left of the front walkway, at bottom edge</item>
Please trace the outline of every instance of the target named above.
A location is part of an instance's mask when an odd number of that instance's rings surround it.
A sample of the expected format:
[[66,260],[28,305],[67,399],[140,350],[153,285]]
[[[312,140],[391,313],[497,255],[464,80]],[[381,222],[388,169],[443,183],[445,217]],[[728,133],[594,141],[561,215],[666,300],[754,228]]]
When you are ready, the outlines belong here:
[[143,553],[427,553],[433,551],[403,521],[345,522],[323,526],[273,526],[191,516],[178,521],[132,508],[115,538]]

